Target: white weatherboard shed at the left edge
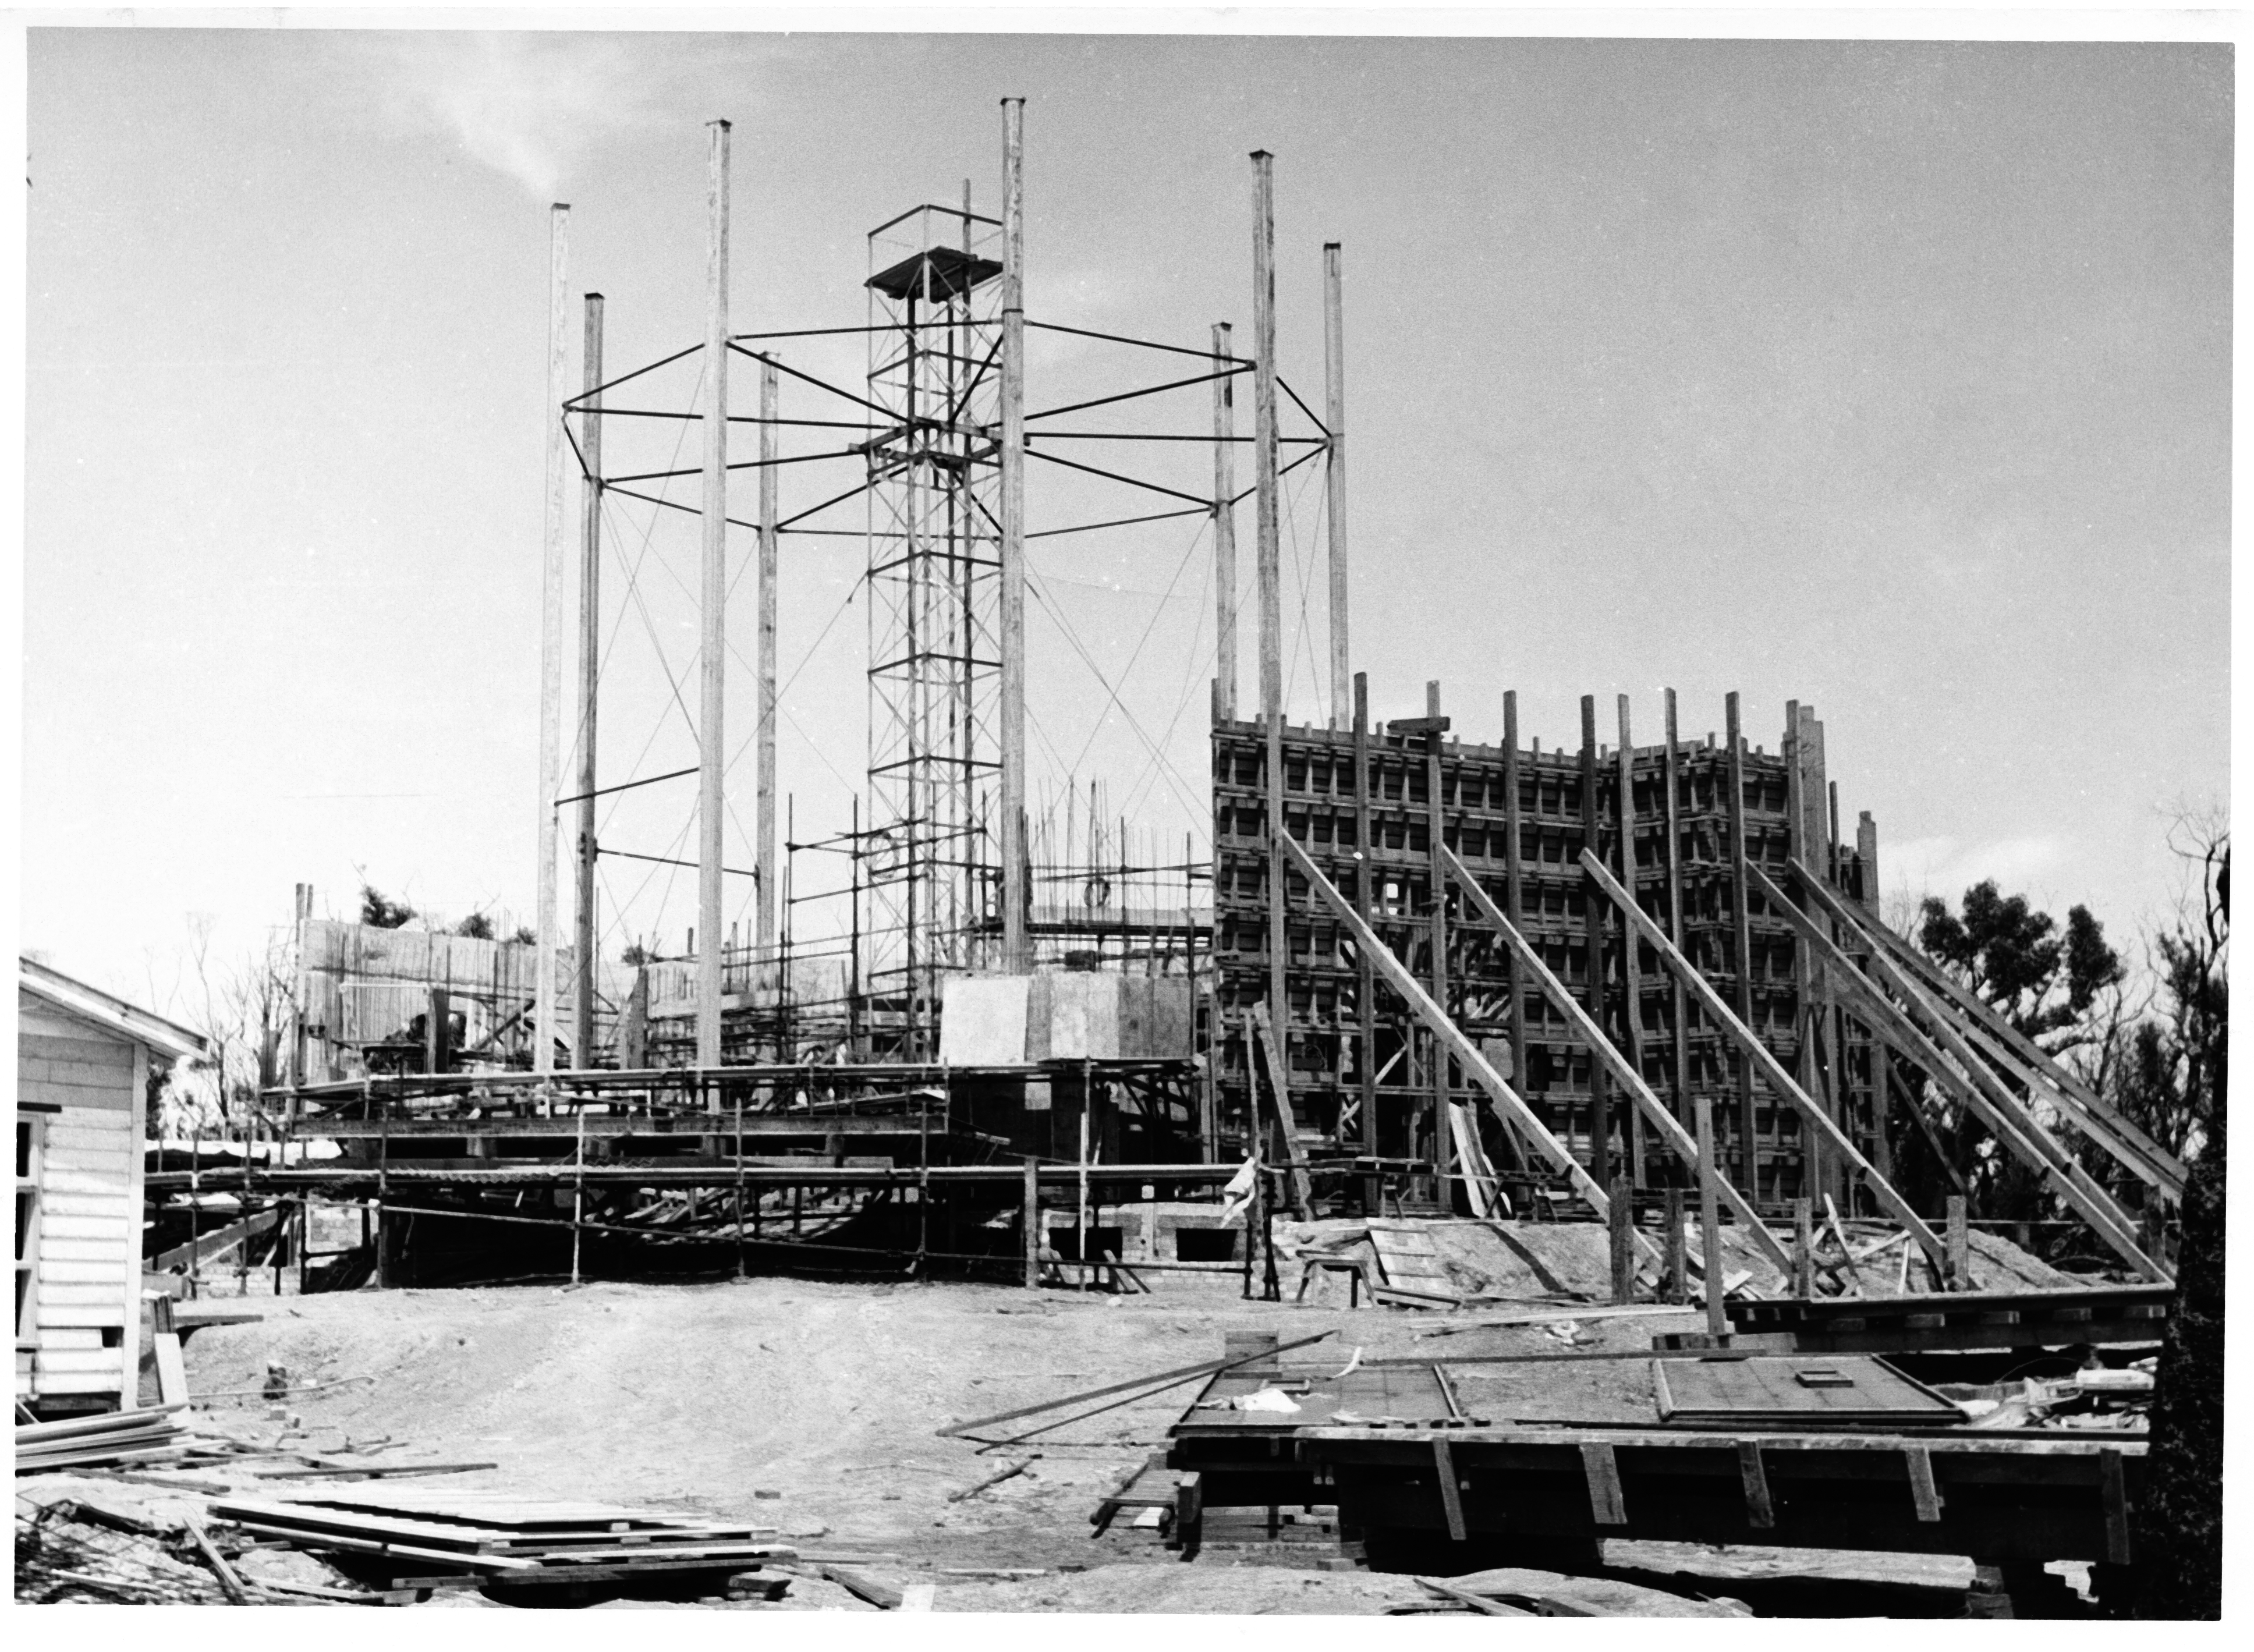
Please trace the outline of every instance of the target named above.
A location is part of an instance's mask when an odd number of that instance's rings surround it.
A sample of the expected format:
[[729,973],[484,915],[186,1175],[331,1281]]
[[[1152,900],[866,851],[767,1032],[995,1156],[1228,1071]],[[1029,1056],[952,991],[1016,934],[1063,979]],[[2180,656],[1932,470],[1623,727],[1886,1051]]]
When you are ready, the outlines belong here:
[[59,969],[16,965],[16,1400],[140,1397],[149,1073],[205,1041]]

